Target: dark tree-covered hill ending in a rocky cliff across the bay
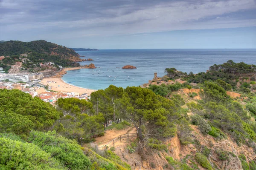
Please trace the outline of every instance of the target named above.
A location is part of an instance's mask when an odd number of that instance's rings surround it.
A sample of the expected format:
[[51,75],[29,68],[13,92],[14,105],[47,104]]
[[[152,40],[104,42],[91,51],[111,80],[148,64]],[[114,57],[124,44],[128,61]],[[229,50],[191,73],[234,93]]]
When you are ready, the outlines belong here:
[[45,40],[36,40],[31,42],[11,40],[0,43],[0,55],[12,56],[29,53],[59,56],[73,62],[81,61],[79,54],[77,54],[73,49],[60,46],[55,43],[50,43]]

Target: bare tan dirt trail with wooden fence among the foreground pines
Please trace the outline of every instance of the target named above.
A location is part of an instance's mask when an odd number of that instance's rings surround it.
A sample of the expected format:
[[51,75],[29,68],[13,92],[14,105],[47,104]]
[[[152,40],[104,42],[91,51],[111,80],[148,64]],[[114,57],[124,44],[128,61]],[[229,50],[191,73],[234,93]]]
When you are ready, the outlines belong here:
[[[106,130],[104,136],[95,138],[96,143],[99,145],[99,147],[102,147],[105,144],[108,144],[114,138],[117,138],[119,135],[124,135],[124,134],[127,134],[127,133],[137,133],[137,130],[136,130],[135,127],[128,127],[124,130]],[[116,142],[115,146],[118,146],[118,145],[124,143],[127,140],[128,139],[122,139],[122,142]]]

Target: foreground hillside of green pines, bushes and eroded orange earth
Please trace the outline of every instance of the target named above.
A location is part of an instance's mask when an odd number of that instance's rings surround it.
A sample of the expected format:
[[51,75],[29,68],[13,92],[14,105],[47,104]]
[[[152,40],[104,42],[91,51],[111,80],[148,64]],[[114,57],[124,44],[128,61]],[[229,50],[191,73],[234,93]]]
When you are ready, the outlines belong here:
[[[190,83],[189,78],[199,75],[183,73],[166,78],[183,76],[183,84],[125,89],[111,85],[93,92],[89,101],[60,98],[56,107],[18,90],[0,90],[0,144],[5,150],[0,166],[255,170],[256,75],[253,65],[246,67],[244,72],[210,70],[198,84]],[[218,74],[226,77],[218,78]],[[231,98],[227,90],[239,92],[241,97]],[[138,137],[128,140],[126,147],[100,150],[93,143],[105,129],[129,125],[137,129]],[[78,145],[81,143],[83,147]],[[38,151],[33,161],[32,150]]]

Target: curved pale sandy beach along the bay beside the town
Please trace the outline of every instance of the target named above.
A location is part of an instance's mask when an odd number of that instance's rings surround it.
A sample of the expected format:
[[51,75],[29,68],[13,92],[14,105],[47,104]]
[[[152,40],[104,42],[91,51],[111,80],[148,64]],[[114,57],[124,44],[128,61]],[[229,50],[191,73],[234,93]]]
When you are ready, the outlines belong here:
[[[64,71],[69,71],[69,70],[75,70],[75,69],[85,69],[81,67],[74,67],[74,68],[65,68],[63,69]],[[93,89],[85,89],[77,86],[73,86],[70,84],[65,83],[61,78],[56,78],[54,77],[49,77],[49,78],[44,78],[41,81],[42,84],[44,85],[49,85],[51,87],[51,90],[57,91],[57,92],[79,92],[79,94],[91,94],[92,92],[96,91]]]

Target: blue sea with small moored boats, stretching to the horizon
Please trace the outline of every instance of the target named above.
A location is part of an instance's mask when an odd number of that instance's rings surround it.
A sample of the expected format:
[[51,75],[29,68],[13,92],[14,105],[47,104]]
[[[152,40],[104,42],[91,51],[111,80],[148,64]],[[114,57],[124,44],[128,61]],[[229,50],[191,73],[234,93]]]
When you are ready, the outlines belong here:
[[[77,51],[82,59],[94,61],[96,69],[70,70],[63,81],[87,89],[105,89],[109,85],[140,86],[154,78],[165,75],[166,68],[176,68],[182,72],[206,72],[213,64],[229,60],[256,65],[256,49],[102,49],[99,51]],[[125,65],[137,69],[122,69]]]

